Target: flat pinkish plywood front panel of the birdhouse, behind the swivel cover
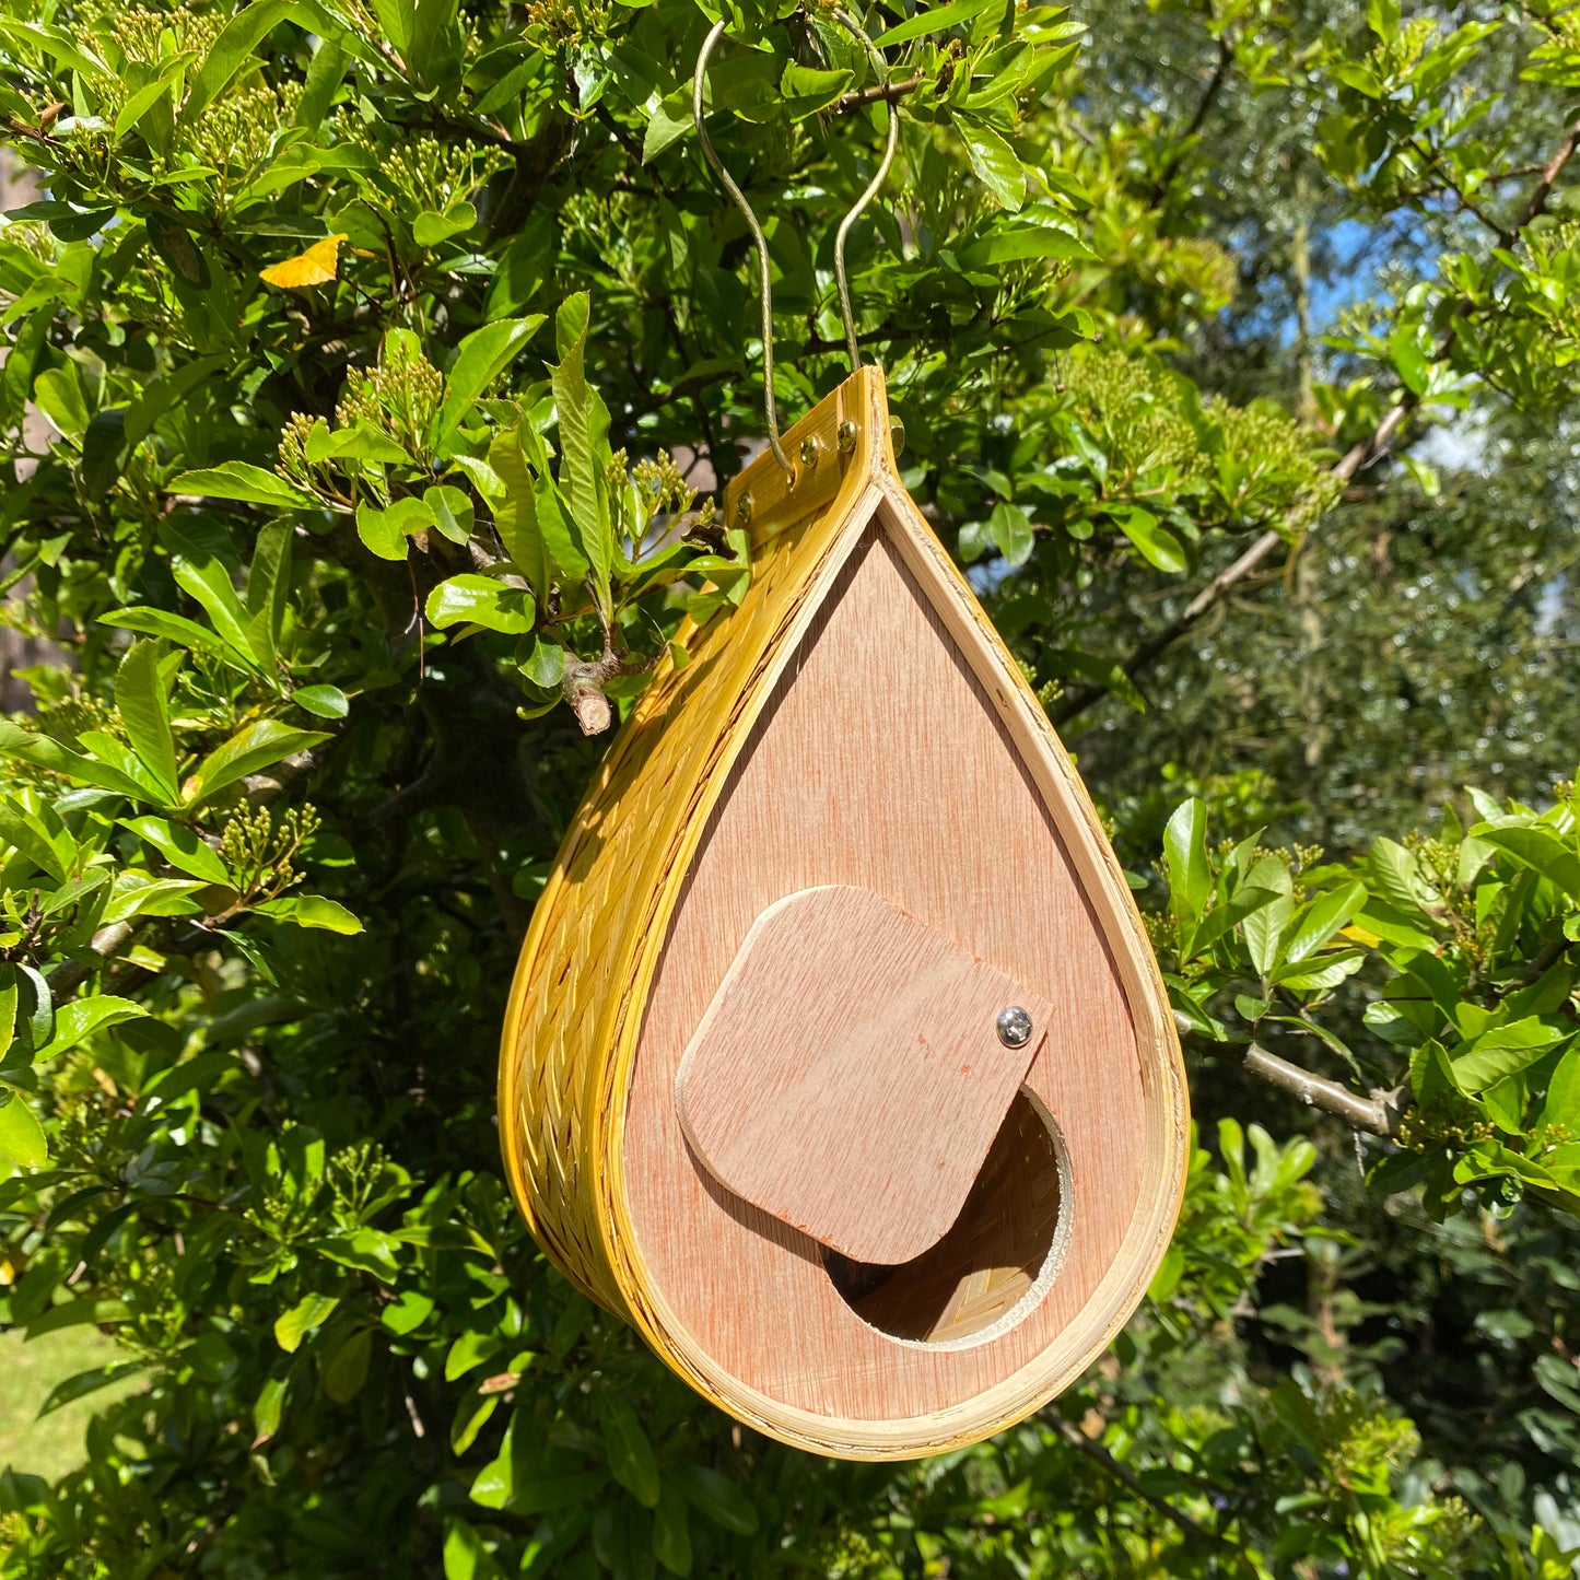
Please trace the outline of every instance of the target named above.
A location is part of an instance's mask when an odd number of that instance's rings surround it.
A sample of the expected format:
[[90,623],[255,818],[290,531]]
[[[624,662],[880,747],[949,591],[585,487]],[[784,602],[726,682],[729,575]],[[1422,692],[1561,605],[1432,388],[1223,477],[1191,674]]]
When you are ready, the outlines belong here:
[[[877,507],[714,811],[648,999],[624,1122],[630,1224],[667,1321],[787,1406],[872,1422],[975,1398],[1084,1316],[1131,1224],[1150,1134],[1127,997],[1078,861],[885,531],[896,509]],[[681,1057],[752,923],[825,883],[882,894],[1054,1006],[1025,1089],[1063,1144],[1057,1272],[1013,1321],[959,1345],[863,1321],[809,1236],[700,1164],[675,1109]]]

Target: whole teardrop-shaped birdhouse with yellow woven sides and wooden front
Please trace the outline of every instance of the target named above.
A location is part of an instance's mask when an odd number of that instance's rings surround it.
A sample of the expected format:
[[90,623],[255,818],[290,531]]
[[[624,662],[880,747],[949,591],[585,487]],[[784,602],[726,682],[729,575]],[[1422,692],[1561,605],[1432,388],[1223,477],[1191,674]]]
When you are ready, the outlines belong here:
[[902,1458],[1029,1414],[1168,1245],[1172,1018],[1014,660],[863,368],[725,496],[686,627],[566,836],[501,1057],[528,1221],[741,1420]]

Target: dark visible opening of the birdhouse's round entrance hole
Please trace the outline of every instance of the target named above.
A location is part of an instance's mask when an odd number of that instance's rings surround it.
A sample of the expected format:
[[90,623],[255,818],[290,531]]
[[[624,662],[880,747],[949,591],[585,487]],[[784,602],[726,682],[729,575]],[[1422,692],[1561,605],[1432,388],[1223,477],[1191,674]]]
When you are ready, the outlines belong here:
[[823,1266],[845,1305],[880,1334],[924,1345],[975,1338],[1011,1319],[1052,1273],[1059,1202],[1051,1122],[1019,1092],[961,1215],[937,1245],[899,1266],[825,1248]]

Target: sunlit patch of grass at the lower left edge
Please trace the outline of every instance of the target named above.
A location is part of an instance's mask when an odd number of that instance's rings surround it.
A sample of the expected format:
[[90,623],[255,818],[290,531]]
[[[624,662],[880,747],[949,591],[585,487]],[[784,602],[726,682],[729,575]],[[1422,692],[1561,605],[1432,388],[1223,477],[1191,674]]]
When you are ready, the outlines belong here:
[[147,1386],[145,1379],[128,1378],[43,1420],[38,1409],[57,1382],[126,1359],[126,1351],[92,1324],[62,1327],[32,1343],[24,1343],[21,1329],[0,1334],[0,1469],[11,1466],[49,1480],[76,1469],[87,1458],[82,1435],[93,1416]]

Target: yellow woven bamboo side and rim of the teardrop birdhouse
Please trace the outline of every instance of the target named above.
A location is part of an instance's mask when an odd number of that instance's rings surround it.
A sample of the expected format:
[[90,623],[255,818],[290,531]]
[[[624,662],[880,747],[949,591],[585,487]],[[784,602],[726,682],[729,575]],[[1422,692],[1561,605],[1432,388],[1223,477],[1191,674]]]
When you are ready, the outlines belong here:
[[[839,450],[841,425],[855,444]],[[1008,651],[899,485],[878,370],[856,373],[785,436],[820,442],[785,488],[765,457],[727,495],[752,495],[752,581],[739,608],[686,626],[689,660],[660,664],[608,750],[534,910],[510,994],[499,1070],[501,1138],[515,1198],[550,1259],[632,1322],[698,1392],[785,1443],[852,1458],[899,1458],[976,1441],[1036,1409],[1112,1340],[1141,1299],[1179,1209],[1188,1112],[1161,980],[1090,803]],[[1123,1250],[1068,1341],[978,1398],[896,1420],[790,1408],[722,1368],[656,1288],[627,1199],[624,1125],[643,1014],[670,920],[709,814],[796,651],[860,523],[886,501],[891,528],[1033,760],[1108,940],[1134,1022],[1146,1085],[1144,1185]],[[855,523],[855,525],[853,525]],[[763,1313],[765,1322],[771,1315]]]

